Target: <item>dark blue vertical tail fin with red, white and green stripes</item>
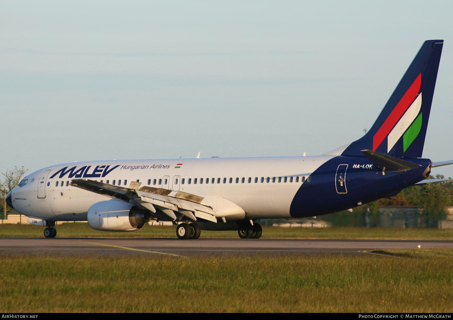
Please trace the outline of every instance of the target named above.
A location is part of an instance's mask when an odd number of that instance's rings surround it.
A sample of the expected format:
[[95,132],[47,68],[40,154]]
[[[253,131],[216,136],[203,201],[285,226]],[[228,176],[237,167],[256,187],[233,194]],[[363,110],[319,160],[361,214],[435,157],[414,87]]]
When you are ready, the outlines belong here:
[[343,156],[371,149],[395,158],[422,157],[442,47],[443,40],[423,43],[376,122]]

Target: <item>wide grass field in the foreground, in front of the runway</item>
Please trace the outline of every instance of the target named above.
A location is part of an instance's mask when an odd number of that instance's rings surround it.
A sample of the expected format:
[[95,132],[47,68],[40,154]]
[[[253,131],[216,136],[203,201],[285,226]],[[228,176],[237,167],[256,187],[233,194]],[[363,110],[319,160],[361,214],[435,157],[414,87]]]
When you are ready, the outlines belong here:
[[[453,252],[0,256],[2,312],[453,312]],[[435,256],[435,259],[433,259]]]

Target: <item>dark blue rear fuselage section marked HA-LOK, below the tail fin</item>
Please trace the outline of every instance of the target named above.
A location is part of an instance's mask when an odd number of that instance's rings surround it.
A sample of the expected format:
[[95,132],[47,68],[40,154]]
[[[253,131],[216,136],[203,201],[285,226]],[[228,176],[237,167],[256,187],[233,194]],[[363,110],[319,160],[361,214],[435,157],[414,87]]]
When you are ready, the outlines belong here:
[[431,160],[405,159],[421,167],[383,172],[365,157],[338,156],[324,163],[300,186],[290,206],[294,218],[326,215],[375,201],[429,175]]

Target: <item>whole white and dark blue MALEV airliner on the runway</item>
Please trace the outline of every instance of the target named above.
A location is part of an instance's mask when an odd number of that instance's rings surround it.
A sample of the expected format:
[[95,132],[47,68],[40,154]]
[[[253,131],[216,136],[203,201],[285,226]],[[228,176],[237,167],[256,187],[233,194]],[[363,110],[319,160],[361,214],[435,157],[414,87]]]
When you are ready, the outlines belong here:
[[320,156],[103,160],[33,172],[8,204],[46,226],[85,221],[96,230],[135,231],[173,221],[179,239],[200,229],[260,238],[265,218],[302,218],[351,210],[424,180],[453,161],[421,158],[443,40],[425,41],[371,129]]

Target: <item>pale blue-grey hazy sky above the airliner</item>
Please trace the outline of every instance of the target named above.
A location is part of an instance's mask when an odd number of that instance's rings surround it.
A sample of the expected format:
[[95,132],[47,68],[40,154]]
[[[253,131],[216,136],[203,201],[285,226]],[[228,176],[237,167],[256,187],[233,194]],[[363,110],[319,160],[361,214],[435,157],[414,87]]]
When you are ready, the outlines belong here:
[[[452,1],[2,1],[0,172],[322,154],[444,39],[424,158],[453,159]],[[453,165],[433,174],[453,177]]]

